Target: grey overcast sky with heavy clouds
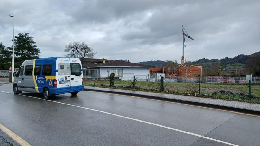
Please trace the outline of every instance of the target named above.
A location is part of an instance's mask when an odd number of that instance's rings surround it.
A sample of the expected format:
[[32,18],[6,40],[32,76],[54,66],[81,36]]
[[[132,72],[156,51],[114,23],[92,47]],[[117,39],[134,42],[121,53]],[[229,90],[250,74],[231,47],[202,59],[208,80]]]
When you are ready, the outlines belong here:
[[15,33],[30,33],[40,57],[64,56],[64,45],[84,41],[95,58],[131,62],[178,60],[183,25],[184,56],[235,57],[260,51],[260,1],[173,0],[1,0],[0,41],[12,45]]

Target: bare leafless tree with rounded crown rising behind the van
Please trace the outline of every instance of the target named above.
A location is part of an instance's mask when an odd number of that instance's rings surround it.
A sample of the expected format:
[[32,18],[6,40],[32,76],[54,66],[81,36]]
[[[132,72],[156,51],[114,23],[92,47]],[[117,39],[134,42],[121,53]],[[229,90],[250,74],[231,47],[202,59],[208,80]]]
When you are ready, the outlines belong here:
[[83,65],[84,58],[93,58],[96,55],[93,47],[89,47],[85,42],[73,41],[68,45],[65,45],[64,52],[67,57],[78,57],[80,58],[81,64]]

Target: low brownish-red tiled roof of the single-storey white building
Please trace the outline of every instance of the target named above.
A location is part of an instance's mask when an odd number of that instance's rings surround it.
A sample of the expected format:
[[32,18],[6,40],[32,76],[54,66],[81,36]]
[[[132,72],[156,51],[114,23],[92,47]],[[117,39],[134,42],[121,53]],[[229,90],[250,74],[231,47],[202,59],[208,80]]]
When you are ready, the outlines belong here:
[[93,64],[90,66],[90,68],[93,67],[154,67],[151,65],[144,65],[144,64],[138,64],[138,63],[131,63],[131,62],[126,62],[126,61],[120,61],[120,60],[115,60],[115,61],[109,61],[105,63],[99,63],[99,64]]

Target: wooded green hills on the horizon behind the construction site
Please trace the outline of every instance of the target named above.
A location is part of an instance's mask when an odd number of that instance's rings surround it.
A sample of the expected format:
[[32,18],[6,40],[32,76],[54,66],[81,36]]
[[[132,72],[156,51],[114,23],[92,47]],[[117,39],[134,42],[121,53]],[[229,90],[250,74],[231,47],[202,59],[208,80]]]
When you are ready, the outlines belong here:
[[[249,60],[252,60],[252,58],[255,58],[256,56],[260,55],[260,51],[253,53],[251,55],[244,55],[240,54],[235,56],[234,58],[229,58],[225,57],[222,59],[207,59],[207,58],[202,58],[196,61],[188,61],[185,63],[185,65],[199,65],[202,66],[203,74],[204,75],[211,75],[215,76],[216,74],[216,69],[219,68],[221,70],[219,75],[222,76],[245,76],[248,73],[252,73],[255,76],[260,75],[259,71],[256,71],[257,69],[254,69],[256,65],[252,64],[260,64],[256,63],[256,61],[251,61],[249,63]],[[249,61],[249,62],[248,62]],[[139,62],[139,64],[145,64],[145,65],[152,65],[155,67],[162,67],[165,64],[167,64],[165,61],[161,60],[156,60],[156,61],[144,61],[144,62]],[[220,66],[220,67],[217,67]],[[254,71],[253,71],[253,70]]]

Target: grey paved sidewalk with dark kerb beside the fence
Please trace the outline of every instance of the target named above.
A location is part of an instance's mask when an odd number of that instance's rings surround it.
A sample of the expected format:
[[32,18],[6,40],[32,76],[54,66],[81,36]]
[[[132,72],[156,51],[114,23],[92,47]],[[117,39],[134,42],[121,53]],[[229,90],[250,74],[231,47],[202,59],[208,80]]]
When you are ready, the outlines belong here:
[[212,99],[212,98],[143,92],[143,91],[132,91],[132,90],[121,90],[121,89],[110,89],[110,88],[100,88],[100,87],[90,87],[90,86],[84,86],[84,90],[139,96],[139,97],[145,97],[150,99],[173,101],[173,102],[179,102],[185,104],[213,107],[217,109],[226,109],[226,110],[238,111],[238,112],[243,112],[248,114],[260,115],[260,104],[251,104],[247,102],[227,101],[222,99]]

